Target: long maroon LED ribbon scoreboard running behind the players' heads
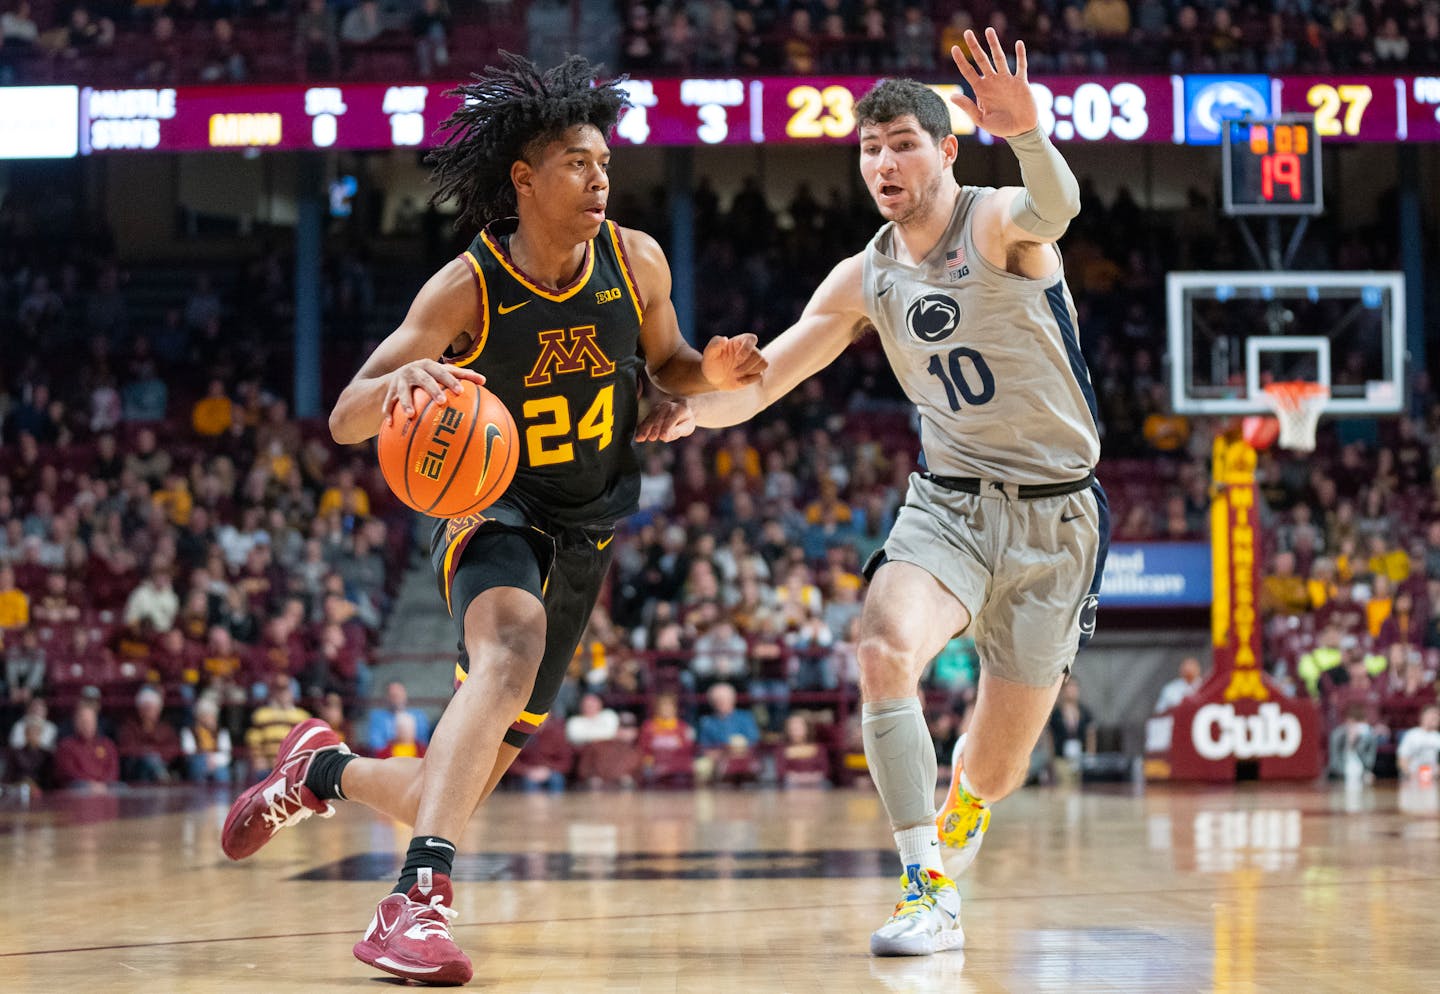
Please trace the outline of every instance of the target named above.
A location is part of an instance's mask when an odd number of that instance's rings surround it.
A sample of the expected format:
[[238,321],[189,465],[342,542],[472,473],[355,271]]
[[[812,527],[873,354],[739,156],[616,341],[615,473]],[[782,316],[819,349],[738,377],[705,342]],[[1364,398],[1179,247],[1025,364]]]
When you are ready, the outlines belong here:
[[[874,82],[876,76],[632,78],[624,84],[631,107],[621,117],[616,144],[854,143],[855,102]],[[945,98],[962,89],[949,78],[930,86]],[[1234,118],[1282,115],[1305,115],[1310,137],[1325,141],[1440,143],[1440,75],[1060,75],[1030,86],[1041,127],[1058,143],[1221,144]],[[0,86],[0,158],[432,147],[456,104],[448,89],[449,84],[433,82]],[[949,107],[958,135],[994,141]],[[1270,161],[1270,169],[1289,170]],[[1256,167],[1266,169],[1264,161]]]

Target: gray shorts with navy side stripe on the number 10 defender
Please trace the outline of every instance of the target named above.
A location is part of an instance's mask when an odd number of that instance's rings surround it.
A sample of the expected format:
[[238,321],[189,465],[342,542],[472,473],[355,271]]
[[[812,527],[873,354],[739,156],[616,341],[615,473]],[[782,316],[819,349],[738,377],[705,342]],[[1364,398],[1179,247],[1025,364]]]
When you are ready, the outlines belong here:
[[1048,687],[1094,634],[1110,510],[1099,483],[1034,500],[1008,491],[985,481],[984,496],[958,493],[912,474],[884,558],[965,605],[985,670]]

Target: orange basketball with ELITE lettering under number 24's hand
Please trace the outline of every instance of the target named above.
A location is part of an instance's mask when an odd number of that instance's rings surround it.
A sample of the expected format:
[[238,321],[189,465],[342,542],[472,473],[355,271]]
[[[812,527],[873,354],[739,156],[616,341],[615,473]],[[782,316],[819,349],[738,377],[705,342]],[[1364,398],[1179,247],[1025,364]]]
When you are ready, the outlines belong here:
[[461,380],[459,393],[436,403],[415,389],[415,416],[380,426],[380,471],[395,496],[435,517],[490,507],[516,477],[516,419],[494,393]]

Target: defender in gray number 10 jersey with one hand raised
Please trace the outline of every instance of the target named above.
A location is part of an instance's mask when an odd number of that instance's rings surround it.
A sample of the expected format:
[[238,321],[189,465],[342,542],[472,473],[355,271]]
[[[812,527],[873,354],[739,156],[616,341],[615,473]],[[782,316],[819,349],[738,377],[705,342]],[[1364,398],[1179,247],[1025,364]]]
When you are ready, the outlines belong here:
[[[888,222],[837,265],[799,321],[765,349],[755,386],[667,405],[655,429],[744,421],[824,369],[874,327],[920,409],[926,473],[910,477],[884,547],[867,563],[860,619],[865,758],[894,828],[904,895],[871,936],[877,955],[963,944],[960,899],[939,843],[965,869],[989,805],[1024,782],[1076,650],[1094,628],[1109,513],[1094,481],[1094,392],[1076,337],[1056,241],[1079,184],[1038,128],[1025,78],[995,30],[952,50],[975,92],[955,102],[1009,141],[1024,187],[959,186],[945,101],[909,79],[858,104],[860,171]],[[685,411],[688,406],[688,411]],[[981,655],[969,733],[936,824],[936,761],[916,694],[958,632]]]

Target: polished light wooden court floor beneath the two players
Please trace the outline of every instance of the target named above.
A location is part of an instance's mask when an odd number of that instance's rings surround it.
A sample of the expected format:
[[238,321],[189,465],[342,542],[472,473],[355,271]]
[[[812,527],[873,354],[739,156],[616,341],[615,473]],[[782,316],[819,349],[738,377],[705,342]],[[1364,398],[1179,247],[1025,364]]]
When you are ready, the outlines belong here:
[[[232,864],[228,795],[0,798],[0,991],[380,991],[350,955],[409,830],[348,808]],[[963,952],[873,959],[873,791],[503,794],[456,864],[472,990],[1436,991],[1437,794],[1032,788],[962,879]]]

